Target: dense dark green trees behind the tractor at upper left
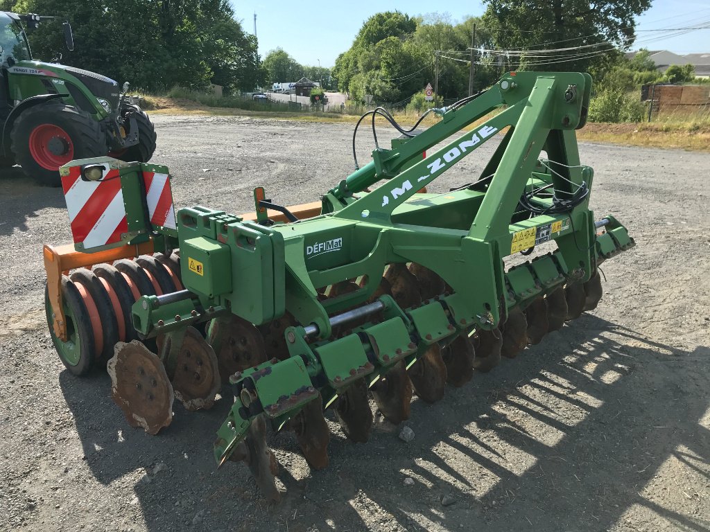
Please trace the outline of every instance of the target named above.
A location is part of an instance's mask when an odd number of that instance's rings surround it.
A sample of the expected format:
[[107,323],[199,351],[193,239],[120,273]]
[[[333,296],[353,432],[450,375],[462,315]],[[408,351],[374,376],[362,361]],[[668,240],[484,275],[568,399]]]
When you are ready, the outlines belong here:
[[[17,0],[13,11],[56,16],[29,35],[33,55],[156,90],[210,82],[227,92],[253,88],[262,72],[256,38],[234,20],[228,0]],[[61,23],[72,23],[75,51]]]

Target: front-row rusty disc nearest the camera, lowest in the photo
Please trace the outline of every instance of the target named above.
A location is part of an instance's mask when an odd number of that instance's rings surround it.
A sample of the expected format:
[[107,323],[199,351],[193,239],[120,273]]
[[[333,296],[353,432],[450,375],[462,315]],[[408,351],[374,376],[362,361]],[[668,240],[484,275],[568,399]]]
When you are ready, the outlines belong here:
[[234,449],[229,460],[246,462],[263,496],[270,501],[280,501],[281,494],[275,478],[278,475],[278,460],[266,444],[266,421],[263,414],[251,421],[246,437]]

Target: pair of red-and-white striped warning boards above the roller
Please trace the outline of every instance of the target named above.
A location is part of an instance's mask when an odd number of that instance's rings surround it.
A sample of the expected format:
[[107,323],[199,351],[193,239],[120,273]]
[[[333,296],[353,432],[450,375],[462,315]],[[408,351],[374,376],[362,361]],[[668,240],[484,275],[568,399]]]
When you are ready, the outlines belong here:
[[[124,189],[121,186],[126,174],[134,174],[136,177],[142,174],[145,184],[149,221],[143,221],[142,228],[150,230],[146,227],[148,224],[176,228],[173,192],[170,189],[168,174],[141,172],[136,167],[119,170],[111,168],[108,163],[100,164],[104,167],[102,177],[95,181],[82,178],[82,165],[69,167],[68,172],[62,172],[65,173],[62,175],[62,188],[67,201],[72,236],[75,244],[81,244],[82,250],[121,245],[126,243],[127,238],[136,235],[135,223],[129,223],[129,217],[126,216]],[[121,174],[124,174],[124,179],[121,179]],[[141,203],[136,201],[135,204],[139,214],[142,210]],[[145,218],[144,215],[135,216],[134,212],[131,221],[141,217]]]

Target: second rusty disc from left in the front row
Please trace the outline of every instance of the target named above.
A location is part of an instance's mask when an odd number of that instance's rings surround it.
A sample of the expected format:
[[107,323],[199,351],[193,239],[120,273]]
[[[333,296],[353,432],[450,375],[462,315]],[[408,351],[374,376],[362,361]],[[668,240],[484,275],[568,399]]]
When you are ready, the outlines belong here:
[[328,465],[330,431],[323,416],[323,401],[313,399],[289,422],[296,435],[303,458],[311,469],[321,470]]

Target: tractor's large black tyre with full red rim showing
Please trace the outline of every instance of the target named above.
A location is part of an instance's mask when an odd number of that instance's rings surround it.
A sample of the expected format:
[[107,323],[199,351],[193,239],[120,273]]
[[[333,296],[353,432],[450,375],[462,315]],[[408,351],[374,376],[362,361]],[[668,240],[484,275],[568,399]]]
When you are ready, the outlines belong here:
[[62,185],[58,169],[67,162],[108,152],[99,123],[61,101],[47,101],[24,111],[10,138],[18,165],[45,187]]

